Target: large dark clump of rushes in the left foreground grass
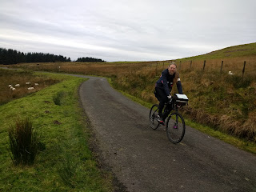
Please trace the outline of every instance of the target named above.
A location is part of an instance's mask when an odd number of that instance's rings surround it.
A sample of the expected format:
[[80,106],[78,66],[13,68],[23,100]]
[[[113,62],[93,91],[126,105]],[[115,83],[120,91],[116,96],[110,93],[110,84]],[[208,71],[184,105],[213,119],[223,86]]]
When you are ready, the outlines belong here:
[[32,165],[38,153],[38,134],[29,118],[17,120],[8,130],[10,157],[15,166]]

